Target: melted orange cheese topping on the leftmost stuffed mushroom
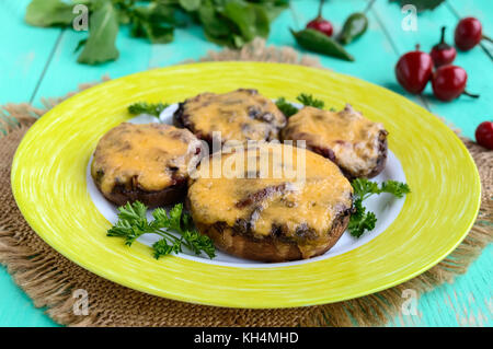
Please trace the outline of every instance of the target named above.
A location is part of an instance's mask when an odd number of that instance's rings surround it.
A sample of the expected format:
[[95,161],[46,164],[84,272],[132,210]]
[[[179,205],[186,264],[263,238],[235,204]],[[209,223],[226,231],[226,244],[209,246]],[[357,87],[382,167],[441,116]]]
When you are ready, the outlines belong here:
[[115,185],[156,191],[187,177],[187,164],[199,141],[186,129],[170,125],[124,123],[101,138],[91,174],[103,193]]

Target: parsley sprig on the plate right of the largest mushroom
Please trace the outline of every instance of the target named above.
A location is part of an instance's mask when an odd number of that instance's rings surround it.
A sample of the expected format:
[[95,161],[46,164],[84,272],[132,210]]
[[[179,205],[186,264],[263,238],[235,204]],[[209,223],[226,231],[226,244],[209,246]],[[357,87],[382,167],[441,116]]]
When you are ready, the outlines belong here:
[[366,178],[354,179],[351,185],[354,191],[354,209],[351,214],[349,224],[347,226],[351,235],[359,237],[365,231],[375,229],[377,217],[371,211],[366,211],[363,201],[374,194],[389,193],[398,198],[402,198],[405,194],[411,193],[408,184],[397,181],[386,181],[378,185],[376,182]]

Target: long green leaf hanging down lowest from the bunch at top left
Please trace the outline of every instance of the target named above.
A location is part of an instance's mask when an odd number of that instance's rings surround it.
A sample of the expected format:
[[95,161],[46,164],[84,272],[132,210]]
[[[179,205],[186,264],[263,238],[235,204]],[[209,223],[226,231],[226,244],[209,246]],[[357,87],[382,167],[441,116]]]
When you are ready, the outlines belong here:
[[[115,47],[118,18],[110,0],[100,0],[89,18],[89,37],[77,59],[80,63],[98,65],[118,58]],[[79,43],[80,44],[80,43]]]

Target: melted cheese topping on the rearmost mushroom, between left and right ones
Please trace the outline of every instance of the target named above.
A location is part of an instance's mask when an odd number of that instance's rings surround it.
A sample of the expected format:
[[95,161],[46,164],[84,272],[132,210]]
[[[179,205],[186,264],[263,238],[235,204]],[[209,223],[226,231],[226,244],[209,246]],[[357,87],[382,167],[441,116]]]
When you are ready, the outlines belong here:
[[277,106],[255,90],[203,93],[187,100],[183,112],[194,132],[213,136],[219,131],[223,141],[277,139],[286,124]]

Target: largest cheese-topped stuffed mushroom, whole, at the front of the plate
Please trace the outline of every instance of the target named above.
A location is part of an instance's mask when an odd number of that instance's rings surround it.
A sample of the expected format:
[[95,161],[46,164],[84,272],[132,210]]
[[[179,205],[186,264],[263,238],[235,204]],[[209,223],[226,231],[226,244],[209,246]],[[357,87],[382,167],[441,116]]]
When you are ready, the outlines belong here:
[[[302,153],[305,162],[299,160]],[[262,154],[268,154],[265,177],[259,175]],[[353,189],[340,168],[323,156],[264,143],[255,152],[233,152],[219,159],[243,177],[225,172],[219,178],[208,177],[215,161],[210,159],[200,164],[199,176],[191,179],[187,194],[197,229],[219,249],[270,263],[306,259],[329,251],[347,228]],[[252,168],[246,165],[249,160],[256,163],[254,178],[244,177],[249,173],[245,168]],[[238,166],[242,161],[244,166]],[[296,172],[297,166],[303,166],[305,181],[285,172],[278,176],[273,170]]]

